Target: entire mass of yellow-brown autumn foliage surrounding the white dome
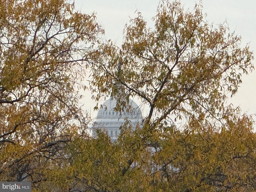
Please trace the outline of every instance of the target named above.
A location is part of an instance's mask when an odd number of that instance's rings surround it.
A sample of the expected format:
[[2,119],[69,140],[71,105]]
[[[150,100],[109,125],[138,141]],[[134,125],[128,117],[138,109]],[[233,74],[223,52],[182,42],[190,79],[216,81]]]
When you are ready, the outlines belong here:
[[[256,190],[253,120],[226,104],[252,52],[208,25],[200,4],[162,2],[154,29],[138,13],[118,48],[65,1],[0,3],[0,180],[44,192]],[[137,97],[149,109],[118,142],[84,134],[74,88],[84,67],[95,100],[122,110]]]

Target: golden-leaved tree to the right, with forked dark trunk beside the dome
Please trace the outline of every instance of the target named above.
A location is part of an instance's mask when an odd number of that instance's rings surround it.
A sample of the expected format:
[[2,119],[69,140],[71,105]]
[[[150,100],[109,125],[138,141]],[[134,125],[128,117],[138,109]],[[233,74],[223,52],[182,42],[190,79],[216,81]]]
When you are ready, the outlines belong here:
[[256,190],[252,119],[227,104],[253,69],[249,47],[225,23],[209,25],[201,4],[189,12],[163,1],[153,20],[148,28],[138,13],[122,46],[106,43],[92,65],[96,100],[115,97],[121,110],[138,97],[149,112],[115,144],[82,142],[90,147],[73,153],[78,180],[109,192]]

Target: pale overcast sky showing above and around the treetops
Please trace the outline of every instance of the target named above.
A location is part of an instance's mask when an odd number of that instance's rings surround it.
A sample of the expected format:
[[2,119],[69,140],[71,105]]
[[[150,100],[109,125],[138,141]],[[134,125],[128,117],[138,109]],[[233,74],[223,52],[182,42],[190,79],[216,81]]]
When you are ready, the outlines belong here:
[[[97,20],[105,30],[105,38],[111,39],[118,46],[122,44],[124,25],[130,18],[136,16],[135,11],[142,13],[148,26],[154,26],[152,17],[156,15],[158,0],[74,0],[76,10],[83,13],[97,13]],[[192,10],[198,0],[180,0],[185,9]],[[230,32],[242,37],[242,46],[250,44],[252,51],[256,50],[256,1],[255,0],[202,0],[203,12],[210,24],[220,24],[225,20]],[[255,63],[255,62],[254,62]],[[228,102],[234,106],[240,106],[242,112],[256,113],[256,72],[242,77],[243,83],[238,93]],[[88,102],[90,93],[85,95],[84,107],[93,110],[94,105]],[[92,117],[96,113],[92,112]],[[256,118],[254,118],[256,120]]]

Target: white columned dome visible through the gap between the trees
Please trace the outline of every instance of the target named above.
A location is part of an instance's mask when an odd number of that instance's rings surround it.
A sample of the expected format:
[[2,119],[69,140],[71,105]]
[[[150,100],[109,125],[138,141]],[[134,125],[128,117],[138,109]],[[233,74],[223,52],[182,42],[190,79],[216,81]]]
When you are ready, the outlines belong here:
[[126,110],[117,112],[116,100],[110,98],[106,100],[99,108],[96,120],[94,121],[93,129],[100,129],[105,131],[112,142],[117,140],[120,134],[120,126],[126,119],[130,121],[132,128],[135,129],[137,124],[142,124],[142,113],[139,106],[131,99],[129,99],[129,112]]

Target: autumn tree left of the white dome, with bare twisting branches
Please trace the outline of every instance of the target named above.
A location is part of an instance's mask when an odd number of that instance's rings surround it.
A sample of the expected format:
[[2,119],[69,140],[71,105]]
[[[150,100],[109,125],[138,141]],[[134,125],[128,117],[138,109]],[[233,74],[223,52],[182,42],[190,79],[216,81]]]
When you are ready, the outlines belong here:
[[85,88],[103,32],[95,14],[76,12],[66,0],[0,1],[1,181],[40,189],[65,164],[65,145],[86,135],[77,86]]

